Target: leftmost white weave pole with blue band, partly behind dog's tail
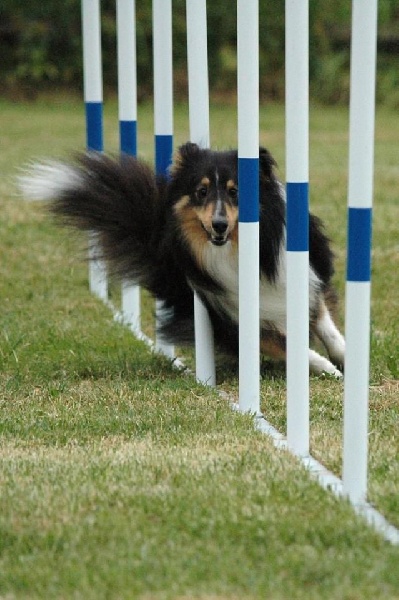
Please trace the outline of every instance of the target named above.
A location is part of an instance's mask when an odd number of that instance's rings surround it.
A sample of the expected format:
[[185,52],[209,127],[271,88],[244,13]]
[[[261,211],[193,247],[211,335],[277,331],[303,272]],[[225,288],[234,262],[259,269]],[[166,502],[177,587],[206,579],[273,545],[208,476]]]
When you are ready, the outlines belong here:
[[[100,0],[82,0],[83,87],[86,111],[86,148],[103,151],[103,81],[101,63]],[[89,287],[104,301],[108,299],[106,269],[96,259],[96,236],[89,236]]]

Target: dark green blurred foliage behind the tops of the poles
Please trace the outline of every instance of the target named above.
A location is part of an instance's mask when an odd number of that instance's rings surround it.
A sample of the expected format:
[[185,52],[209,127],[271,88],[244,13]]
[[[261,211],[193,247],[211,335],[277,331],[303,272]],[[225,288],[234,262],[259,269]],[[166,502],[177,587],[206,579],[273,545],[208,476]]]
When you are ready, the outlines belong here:
[[[102,0],[104,85],[116,89],[115,0]],[[151,0],[137,0],[138,84],[151,94]],[[349,91],[351,2],[310,0],[312,97],[346,101]],[[186,93],[185,0],[173,0],[175,94]],[[236,3],[208,2],[211,89],[232,94],[236,86]],[[380,102],[399,106],[399,2],[380,0],[378,41]],[[34,97],[43,90],[79,91],[82,82],[79,0],[2,0],[0,6],[0,94]],[[261,94],[284,94],[284,2],[260,1]]]

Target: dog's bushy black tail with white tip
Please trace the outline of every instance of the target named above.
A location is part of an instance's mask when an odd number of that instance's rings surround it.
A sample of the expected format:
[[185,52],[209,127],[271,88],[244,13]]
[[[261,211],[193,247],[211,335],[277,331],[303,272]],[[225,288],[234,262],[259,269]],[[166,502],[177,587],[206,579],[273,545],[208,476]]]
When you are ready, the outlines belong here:
[[49,202],[64,224],[94,232],[110,271],[151,291],[158,264],[165,184],[126,155],[78,155],[71,163],[35,164],[20,178],[24,195]]

